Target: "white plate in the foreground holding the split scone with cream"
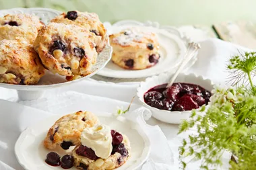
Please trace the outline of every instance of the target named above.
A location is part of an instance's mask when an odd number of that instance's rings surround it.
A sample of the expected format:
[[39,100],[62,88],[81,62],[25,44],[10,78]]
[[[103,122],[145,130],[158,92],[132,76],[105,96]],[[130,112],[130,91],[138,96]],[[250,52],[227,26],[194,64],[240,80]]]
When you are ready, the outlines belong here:
[[[108,113],[96,113],[100,122],[110,125],[111,128],[126,134],[131,141],[131,158],[117,170],[135,170],[148,159],[150,154],[150,140],[139,124],[131,122],[124,117],[113,116]],[[27,170],[50,170],[62,169],[61,167],[52,167],[47,165],[44,160],[50,151],[44,148],[42,141],[49,128],[61,116],[53,116],[46,120],[26,128],[18,138],[15,144],[15,155],[22,167]],[[57,151],[63,156],[69,151],[61,149]],[[76,169],[75,167],[71,169]]]

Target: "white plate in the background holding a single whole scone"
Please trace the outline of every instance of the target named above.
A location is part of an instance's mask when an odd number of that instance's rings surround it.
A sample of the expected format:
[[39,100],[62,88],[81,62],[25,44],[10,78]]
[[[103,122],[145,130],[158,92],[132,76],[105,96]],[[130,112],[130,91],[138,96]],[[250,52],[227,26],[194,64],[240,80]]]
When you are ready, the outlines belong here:
[[175,69],[187,50],[182,35],[178,30],[175,30],[171,27],[160,28],[158,24],[146,24],[135,22],[135,21],[123,21],[113,24],[111,26],[109,23],[104,23],[108,34],[113,34],[120,32],[125,28],[137,27],[141,30],[146,30],[156,33],[160,43],[160,55],[161,58],[157,65],[150,67],[148,69],[131,71],[127,69],[122,69],[121,67],[115,65],[113,62],[108,62],[108,65],[98,72],[97,75],[105,77],[115,77],[123,79],[132,79],[132,78],[141,78],[141,77],[150,77],[152,75],[158,75],[167,71]]

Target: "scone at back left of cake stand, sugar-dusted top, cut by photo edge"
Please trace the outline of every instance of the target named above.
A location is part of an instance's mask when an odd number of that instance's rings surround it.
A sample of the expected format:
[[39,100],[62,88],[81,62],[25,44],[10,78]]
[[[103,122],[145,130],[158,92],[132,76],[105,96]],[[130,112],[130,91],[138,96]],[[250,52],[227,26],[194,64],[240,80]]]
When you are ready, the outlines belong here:
[[34,15],[13,14],[0,17],[0,40],[18,40],[34,43],[38,30],[44,24]]

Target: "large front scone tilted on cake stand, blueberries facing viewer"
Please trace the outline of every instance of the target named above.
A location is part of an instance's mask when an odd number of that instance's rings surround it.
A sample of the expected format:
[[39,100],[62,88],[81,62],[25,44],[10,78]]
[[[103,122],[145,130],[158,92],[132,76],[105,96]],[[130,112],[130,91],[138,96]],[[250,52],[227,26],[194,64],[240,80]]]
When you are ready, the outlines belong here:
[[98,53],[92,32],[75,25],[50,23],[34,42],[42,64],[53,73],[72,77],[90,74]]

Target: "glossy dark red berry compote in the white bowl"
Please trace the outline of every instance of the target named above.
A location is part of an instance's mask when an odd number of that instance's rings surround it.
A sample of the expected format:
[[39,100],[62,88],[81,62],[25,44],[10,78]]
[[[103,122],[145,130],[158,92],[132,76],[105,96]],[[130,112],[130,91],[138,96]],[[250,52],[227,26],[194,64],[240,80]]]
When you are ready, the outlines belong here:
[[147,91],[144,94],[144,101],[160,110],[185,111],[207,105],[212,95],[210,91],[199,85],[173,83],[168,88],[166,85],[158,85]]

